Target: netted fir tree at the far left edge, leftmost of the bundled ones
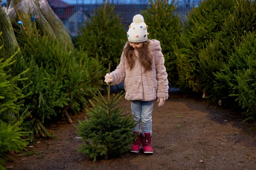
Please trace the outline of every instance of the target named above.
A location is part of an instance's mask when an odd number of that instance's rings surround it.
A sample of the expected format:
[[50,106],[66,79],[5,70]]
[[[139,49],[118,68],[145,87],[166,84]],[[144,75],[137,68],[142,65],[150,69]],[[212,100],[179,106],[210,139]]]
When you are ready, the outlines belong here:
[[[16,40],[11,21],[2,6],[0,6],[0,16],[0,32],[3,32],[2,38],[5,42],[5,49],[10,56],[12,56],[19,48],[19,45]],[[21,52],[19,51],[18,54],[21,54]]]

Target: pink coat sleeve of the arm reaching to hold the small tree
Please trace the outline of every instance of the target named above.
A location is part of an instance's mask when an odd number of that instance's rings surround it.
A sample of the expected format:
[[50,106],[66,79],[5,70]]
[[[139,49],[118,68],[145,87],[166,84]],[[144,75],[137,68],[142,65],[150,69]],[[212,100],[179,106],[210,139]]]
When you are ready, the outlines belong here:
[[115,71],[112,71],[112,76],[113,76],[113,82],[111,85],[118,85],[121,82],[125,81],[125,59],[122,57],[120,59],[119,65],[116,67]]

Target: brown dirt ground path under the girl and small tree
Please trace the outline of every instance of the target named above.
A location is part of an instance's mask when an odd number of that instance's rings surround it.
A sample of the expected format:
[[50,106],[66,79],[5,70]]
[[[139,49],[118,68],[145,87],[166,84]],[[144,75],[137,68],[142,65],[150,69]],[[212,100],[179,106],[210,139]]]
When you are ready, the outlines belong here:
[[[121,105],[131,111],[125,99]],[[85,113],[49,127],[55,139],[35,141],[22,156],[10,156],[14,170],[256,170],[256,125],[242,123],[229,110],[207,102],[170,94],[153,111],[153,155],[128,153],[123,158],[90,161],[78,152],[75,125]],[[29,154],[32,154],[28,156]]]

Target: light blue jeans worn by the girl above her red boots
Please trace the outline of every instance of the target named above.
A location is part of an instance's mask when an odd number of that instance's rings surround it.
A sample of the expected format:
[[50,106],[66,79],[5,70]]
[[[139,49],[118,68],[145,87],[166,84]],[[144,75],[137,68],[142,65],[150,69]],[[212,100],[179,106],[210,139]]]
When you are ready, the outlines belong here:
[[133,128],[133,131],[141,131],[141,122],[143,133],[152,132],[152,111],[154,101],[143,102],[138,100],[131,101],[131,113],[134,116],[135,122],[138,124]]

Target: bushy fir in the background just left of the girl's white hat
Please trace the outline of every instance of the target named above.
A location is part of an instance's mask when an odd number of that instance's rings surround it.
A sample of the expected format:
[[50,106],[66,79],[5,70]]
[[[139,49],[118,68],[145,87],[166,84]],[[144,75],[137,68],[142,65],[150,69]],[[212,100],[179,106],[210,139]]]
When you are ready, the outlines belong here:
[[114,8],[115,6],[108,0],[94,10],[94,14],[90,15],[90,19],[85,20],[75,39],[77,48],[81,46],[89,56],[102,61],[105,68],[108,68],[109,62],[114,65],[119,64],[127,40],[122,19]]

